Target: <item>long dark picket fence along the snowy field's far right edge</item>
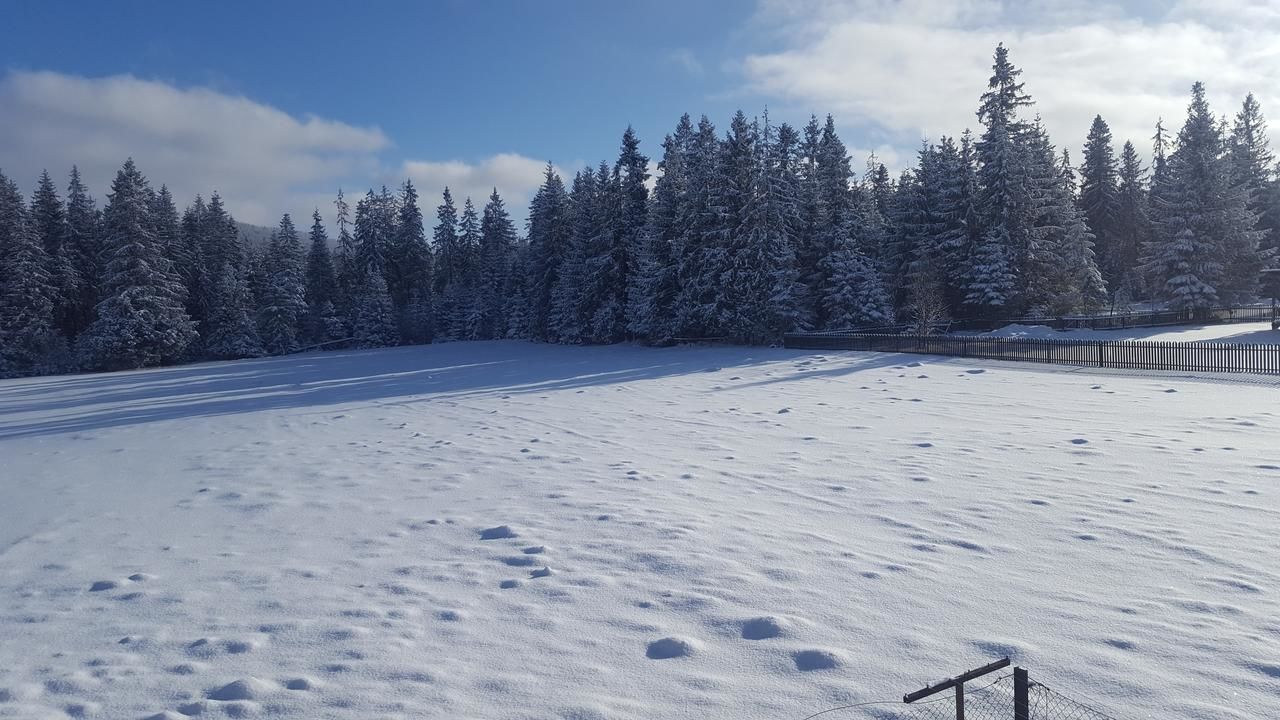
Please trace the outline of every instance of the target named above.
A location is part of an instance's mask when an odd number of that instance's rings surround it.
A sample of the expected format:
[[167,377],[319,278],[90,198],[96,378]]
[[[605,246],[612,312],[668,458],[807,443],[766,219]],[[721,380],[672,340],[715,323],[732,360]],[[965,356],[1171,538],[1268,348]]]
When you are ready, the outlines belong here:
[[1280,374],[1280,345],[982,336],[792,333],[786,347],[1016,360],[1087,368]]

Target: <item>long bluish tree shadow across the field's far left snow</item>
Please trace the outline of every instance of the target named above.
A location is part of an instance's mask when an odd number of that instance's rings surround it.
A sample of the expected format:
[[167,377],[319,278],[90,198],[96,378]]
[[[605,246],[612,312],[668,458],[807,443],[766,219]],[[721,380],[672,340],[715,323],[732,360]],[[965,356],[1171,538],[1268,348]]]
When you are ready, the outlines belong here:
[[204,363],[0,386],[0,438],[361,402],[431,402],[655,379],[795,357],[769,348],[458,342]]

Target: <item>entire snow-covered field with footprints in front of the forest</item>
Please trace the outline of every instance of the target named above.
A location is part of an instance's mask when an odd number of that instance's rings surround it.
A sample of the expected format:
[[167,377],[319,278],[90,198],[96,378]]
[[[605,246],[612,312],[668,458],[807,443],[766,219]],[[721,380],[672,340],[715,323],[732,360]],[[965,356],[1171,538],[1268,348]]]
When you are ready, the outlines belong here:
[[1005,653],[1276,717],[1277,401],[516,342],[6,380],[0,717],[785,720]]

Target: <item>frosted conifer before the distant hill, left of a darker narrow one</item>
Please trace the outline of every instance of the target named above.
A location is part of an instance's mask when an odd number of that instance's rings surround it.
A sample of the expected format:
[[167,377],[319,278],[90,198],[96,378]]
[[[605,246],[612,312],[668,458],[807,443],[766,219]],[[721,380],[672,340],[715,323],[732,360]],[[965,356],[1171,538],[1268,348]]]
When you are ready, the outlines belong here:
[[298,331],[306,315],[302,243],[285,213],[271,234],[265,258],[266,284],[259,299],[259,336],[270,355],[284,355],[298,348]]

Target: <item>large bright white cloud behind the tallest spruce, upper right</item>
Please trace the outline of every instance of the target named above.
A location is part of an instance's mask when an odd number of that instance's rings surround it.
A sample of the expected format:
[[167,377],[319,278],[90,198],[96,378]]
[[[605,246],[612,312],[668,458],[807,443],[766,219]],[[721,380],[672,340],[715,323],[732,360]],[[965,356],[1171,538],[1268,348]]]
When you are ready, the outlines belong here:
[[[781,49],[744,59],[749,90],[831,111],[863,135],[852,143],[892,143],[904,158],[920,137],[978,129],[997,42],[1023,68],[1051,136],[1073,151],[1101,114],[1117,145],[1132,140],[1147,152],[1157,118],[1181,124],[1197,79],[1219,114],[1234,115],[1252,91],[1280,119],[1280,12],[1271,3],[1190,0],[1143,17],[1066,0],[767,0],[756,23],[778,28]],[[1280,122],[1271,129],[1280,141]]]

